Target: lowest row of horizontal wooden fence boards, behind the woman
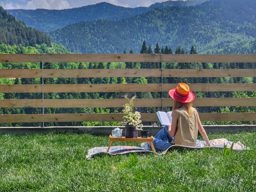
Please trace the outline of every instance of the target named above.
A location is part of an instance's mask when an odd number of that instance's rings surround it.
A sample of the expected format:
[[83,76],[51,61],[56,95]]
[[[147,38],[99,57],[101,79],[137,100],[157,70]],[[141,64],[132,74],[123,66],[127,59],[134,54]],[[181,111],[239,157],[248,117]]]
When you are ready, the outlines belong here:
[[[11,114],[0,123],[123,121],[123,113]],[[201,121],[256,121],[256,113],[199,113]],[[142,121],[159,121],[155,113],[141,113]]]

